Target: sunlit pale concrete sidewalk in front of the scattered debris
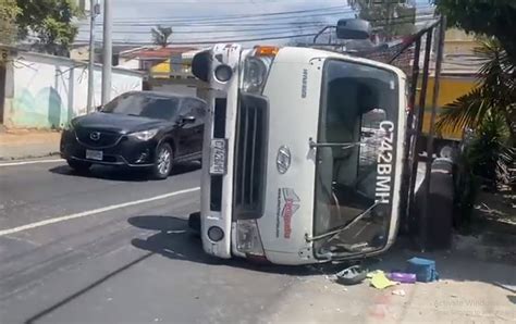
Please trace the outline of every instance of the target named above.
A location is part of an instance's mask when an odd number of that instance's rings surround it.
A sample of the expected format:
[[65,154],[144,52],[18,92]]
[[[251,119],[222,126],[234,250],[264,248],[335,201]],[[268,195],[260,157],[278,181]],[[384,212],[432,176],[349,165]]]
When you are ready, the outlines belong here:
[[463,247],[433,253],[395,247],[369,270],[403,269],[417,256],[437,261],[440,281],[378,290],[367,281],[342,286],[332,275],[297,277],[265,323],[514,323],[516,263],[493,254],[478,256]]

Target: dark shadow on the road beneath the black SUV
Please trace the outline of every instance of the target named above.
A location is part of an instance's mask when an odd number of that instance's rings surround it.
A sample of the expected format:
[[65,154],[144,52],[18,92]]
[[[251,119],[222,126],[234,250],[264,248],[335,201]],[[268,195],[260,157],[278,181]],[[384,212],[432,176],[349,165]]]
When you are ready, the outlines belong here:
[[[199,163],[185,163],[174,165],[171,176],[191,173],[200,169]],[[49,172],[65,176],[82,176],[87,178],[97,178],[115,182],[149,182],[152,180],[147,170],[130,170],[124,167],[111,167],[103,165],[94,165],[88,173],[79,173],[67,165],[59,165],[49,169]]]

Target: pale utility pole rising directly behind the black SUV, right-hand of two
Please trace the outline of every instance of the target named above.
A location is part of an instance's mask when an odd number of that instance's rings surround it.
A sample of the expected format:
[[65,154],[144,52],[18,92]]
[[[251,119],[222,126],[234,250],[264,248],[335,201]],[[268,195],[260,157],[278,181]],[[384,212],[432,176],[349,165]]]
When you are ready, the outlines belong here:
[[102,104],[108,103],[111,99],[111,60],[113,57],[111,1],[103,0]]

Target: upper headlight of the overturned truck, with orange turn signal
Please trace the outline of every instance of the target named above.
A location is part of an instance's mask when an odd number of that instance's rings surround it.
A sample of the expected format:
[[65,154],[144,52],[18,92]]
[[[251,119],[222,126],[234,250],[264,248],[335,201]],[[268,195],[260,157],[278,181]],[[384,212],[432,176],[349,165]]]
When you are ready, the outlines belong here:
[[277,47],[256,47],[244,60],[242,88],[245,92],[261,95],[272,62],[278,54]]

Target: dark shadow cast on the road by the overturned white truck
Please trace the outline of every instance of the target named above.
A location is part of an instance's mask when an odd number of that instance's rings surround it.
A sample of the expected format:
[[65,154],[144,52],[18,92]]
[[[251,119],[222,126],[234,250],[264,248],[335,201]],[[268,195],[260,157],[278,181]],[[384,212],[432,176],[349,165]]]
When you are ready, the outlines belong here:
[[[160,230],[145,239],[135,238],[132,245],[138,249],[161,254],[174,260],[239,267],[248,271],[259,271],[274,274],[306,276],[334,273],[334,265],[280,266],[254,263],[243,259],[223,260],[204,252],[200,238],[192,233],[187,221],[173,216],[148,215],[135,216],[127,221],[133,226],[150,230]],[[339,266],[341,269],[342,265]]]

